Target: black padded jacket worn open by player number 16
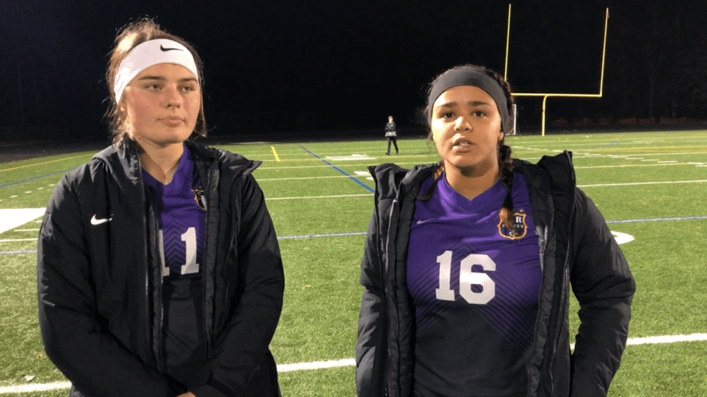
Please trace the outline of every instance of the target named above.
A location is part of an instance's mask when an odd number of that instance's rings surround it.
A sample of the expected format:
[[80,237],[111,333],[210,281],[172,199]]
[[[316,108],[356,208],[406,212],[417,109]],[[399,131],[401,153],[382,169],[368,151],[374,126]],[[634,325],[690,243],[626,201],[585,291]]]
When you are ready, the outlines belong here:
[[[594,203],[576,187],[571,153],[545,156],[537,165],[514,160],[514,165],[515,172],[527,176],[542,264],[527,396],[606,396],[626,346],[636,289],[626,259]],[[356,345],[360,397],[412,393],[415,323],[405,282],[407,251],[420,185],[434,169],[370,167],[376,191],[361,261],[364,291]],[[568,341],[570,284],[581,308],[573,354]]]

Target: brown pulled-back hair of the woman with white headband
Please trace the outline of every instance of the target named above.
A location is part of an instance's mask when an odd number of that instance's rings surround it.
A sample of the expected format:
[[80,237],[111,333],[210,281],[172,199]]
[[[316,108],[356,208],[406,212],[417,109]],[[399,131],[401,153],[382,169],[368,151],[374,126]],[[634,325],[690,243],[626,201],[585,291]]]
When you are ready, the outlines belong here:
[[155,39],[169,39],[184,45],[189,49],[194,57],[194,63],[197,64],[197,71],[199,71],[199,90],[201,90],[201,106],[199,109],[199,116],[197,117],[197,125],[194,126],[194,133],[200,136],[206,136],[206,118],[204,117],[204,73],[201,64],[201,58],[197,51],[189,45],[189,43],[182,39],[168,33],[167,31],[160,28],[160,25],[155,23],[154,20],[150,18],[142,18],[136,22],[129,23],[125,25],[122,29],[118,31],[115,37],[115,47],[113,47],[110,52],[110,58],[108,59],[108,70],[105,74],[106,81],[108,83],[108,90],[110,90],[110,107],[108,108],[107,117],[109,119],[110,131],[112,134],[112,141],[116,144],[122,144],[124,139],[127,138],[129,130],[126,126],[126,114],[120,109],[120,106],[115,102],[115,93],[113,92],[113,85],[115,84],[115,76],[118,73],[118,68],[120,62],[125,59],[128,52],[133,49],[136,45],[139,45],[148,40]]

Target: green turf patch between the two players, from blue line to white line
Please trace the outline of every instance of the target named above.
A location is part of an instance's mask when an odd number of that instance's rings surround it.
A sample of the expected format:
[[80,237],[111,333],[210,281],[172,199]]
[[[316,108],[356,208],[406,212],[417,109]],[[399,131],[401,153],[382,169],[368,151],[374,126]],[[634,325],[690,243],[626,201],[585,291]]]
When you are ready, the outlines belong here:
[[[276,362],[352,357],[363,288],[365,236],[284,240],[284,307],[272,343]],[[329,343],[337,340],[336,345]],[[313,357],[316,357],[313,360]]]

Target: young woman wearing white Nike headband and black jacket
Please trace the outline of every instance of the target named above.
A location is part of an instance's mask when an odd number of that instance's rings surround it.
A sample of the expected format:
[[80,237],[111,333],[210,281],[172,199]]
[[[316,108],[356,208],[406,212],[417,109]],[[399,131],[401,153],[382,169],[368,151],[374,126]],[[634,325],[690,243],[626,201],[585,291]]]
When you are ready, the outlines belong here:
[[66,174],[37,247],[40,327],[69,396],[279,396],[284,274],[259,162],[206,135],[201,61],[152,20],[110,54],[113,145]]

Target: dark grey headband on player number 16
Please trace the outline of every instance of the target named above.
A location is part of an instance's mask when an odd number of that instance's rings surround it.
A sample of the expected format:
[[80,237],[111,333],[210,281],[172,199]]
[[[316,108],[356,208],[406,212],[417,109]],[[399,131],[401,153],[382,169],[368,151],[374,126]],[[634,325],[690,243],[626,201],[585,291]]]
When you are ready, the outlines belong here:
[[496,79],[489,76],[481,69],[472,68],[451,69],[437,78],[435,85],[433,85],[430,90],[430,96],[427,99],[427,122],[430,125],[432,125],[432,107],[437,98],[446,90],[457,85],[473,85],[489,93],[493,100],[496,101],[498,112],[501,113],[501,128],[504,132],[508,131],[509,117],[506,92]]

